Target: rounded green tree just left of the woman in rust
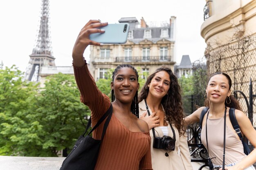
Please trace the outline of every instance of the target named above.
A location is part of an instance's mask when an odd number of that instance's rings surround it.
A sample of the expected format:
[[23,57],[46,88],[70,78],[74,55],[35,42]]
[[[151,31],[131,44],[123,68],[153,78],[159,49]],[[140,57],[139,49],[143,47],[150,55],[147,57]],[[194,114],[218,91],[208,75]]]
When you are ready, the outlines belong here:
[[74,76],[58,73],[47,80],[36,101],[36,117],[43,131],[40,154],[35,156],[56,156],[58,150],[72,148],[85,130],[84,118],[90,114],[80,102]]

